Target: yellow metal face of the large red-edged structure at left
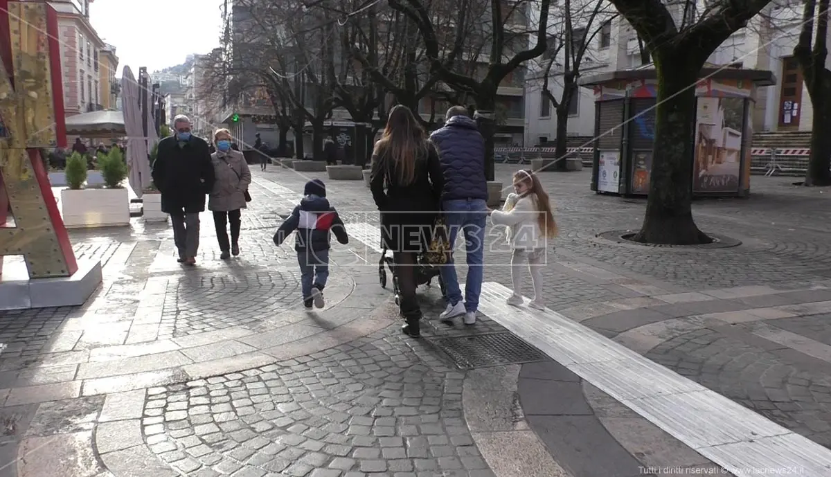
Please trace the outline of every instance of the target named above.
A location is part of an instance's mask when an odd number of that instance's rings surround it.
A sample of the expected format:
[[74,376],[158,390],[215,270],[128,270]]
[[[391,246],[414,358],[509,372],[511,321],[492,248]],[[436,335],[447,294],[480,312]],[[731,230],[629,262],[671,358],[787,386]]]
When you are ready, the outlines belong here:
[[[45,3],[9,2],[14,85],[0,61],[0,174],[15,227],[0,228],[0,255],[26,257],[30,278],[69,276],[57,233],[27,148],[57,145]],[[43,178],[46,180],[46,178]]]

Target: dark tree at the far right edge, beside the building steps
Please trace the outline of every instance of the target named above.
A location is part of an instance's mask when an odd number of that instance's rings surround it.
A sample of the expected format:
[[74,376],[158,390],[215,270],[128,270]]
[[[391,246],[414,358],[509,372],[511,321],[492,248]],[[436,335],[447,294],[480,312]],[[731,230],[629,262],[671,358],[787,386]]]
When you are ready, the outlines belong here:
[[[805,185],[831,185],[831,71],[828,58],[829,0],[805,0],[794,57],[813,106],[811,155]],[[816,33],[814,33],[816,28]]]

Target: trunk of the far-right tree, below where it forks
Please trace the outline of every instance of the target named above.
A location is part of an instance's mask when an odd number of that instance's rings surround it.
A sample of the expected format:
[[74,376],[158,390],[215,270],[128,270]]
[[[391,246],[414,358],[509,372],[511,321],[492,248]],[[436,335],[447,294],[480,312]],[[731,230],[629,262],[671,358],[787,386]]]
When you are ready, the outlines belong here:
[[[824,68],[824,65],[814,67]],[[831,185],[831,72],[822,71],[822,79],[814,85],[811,103],[814,106],[814,119],[811,124],[811,155],[808,160],[808,172],[805,185]]]

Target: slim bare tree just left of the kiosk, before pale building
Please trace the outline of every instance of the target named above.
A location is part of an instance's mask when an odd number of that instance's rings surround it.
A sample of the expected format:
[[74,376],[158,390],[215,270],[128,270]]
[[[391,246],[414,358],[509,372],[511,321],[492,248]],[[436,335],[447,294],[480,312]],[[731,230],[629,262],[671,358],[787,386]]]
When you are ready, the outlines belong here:
[[[553,24],[549,26],[549,31],[554,34],[549,37],[548,51],[543,54],[543,60],[538,62],[543,64],[543,96],[546,98],[543,101],[550,101],[557,117],[554,143],[554,155],[560,159],[555,163],[557,170],[566,169],[562,159],[568,150],[568,115],[574,96],[580,94],[578,78],[583,71],[583,63],[593,60],[591,49],[595,38],[598,35],[602,37],[602,32],[611,27],[615,16],[617,12],[609,7],[607,0],[577,2],[577,5],[572,0],[565,0],[558,12],[552,15]],[[611,32],[607,33],[609,36],[602,37],[602,41],[611,41]],[[558,76],[561,76],[558,82],[563,86],[559,98],[549,87],[554,66],[557,66]]]

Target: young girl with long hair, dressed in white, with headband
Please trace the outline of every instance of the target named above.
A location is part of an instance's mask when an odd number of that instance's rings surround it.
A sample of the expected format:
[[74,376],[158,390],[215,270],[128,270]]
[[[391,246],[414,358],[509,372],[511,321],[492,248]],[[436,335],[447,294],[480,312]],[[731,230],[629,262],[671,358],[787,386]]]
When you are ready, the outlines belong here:
[[511,281],[514,294],[508,298],[509,305],[521,305],[522,281],[525,275],[525,263],[531,270],[534,283],[534,299],[529,307],[545,309],[543,301],[543,275],[545,252],[548,238],[557,236],[557,224],[551,212],[551,202],[543,190],[539,179],[530,170],[514,173],[514,194],[505,199],[502,210],[492,210],[490,219],[494,225],[508,226],[508,240],[514,248],[511,257]]

